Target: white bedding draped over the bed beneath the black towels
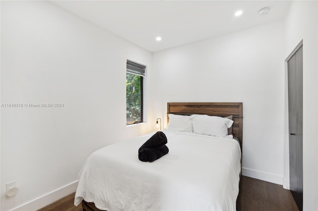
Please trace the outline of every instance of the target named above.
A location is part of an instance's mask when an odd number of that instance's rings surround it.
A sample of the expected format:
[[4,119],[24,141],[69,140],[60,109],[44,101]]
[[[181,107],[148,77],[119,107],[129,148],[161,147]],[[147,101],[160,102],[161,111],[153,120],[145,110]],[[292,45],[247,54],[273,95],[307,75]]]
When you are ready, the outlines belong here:
[[236,210],[241,152],[231,138],[163,130],[169,153],[154,162],[138,149],[154,133],[92,153],[79,172],[74,204],[107,211]]

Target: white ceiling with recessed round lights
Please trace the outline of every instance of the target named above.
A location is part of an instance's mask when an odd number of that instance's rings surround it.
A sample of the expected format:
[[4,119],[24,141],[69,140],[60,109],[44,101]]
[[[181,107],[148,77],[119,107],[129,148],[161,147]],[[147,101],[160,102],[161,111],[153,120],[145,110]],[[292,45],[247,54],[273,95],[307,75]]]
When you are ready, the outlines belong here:
[[[149,52],[283,20],[289,0],[52,0]],[[259,9],[271,7],[267,15]],[[242,10],[240,16],[235,16]],[[160,36],[161,41],[156,41]]]

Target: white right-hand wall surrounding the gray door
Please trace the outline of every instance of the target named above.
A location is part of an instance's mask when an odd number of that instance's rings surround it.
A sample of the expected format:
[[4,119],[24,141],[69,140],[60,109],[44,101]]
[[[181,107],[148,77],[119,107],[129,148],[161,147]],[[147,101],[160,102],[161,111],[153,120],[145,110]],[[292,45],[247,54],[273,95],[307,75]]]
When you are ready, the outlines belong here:
[[[318,210],[318,3],[292,1],[285,20],[284,57],[303,40],[303,175],[304,210]],[[285,96],[287,71],[285,70]],[[285,178],[289,186],[288,99],[285,100]]]

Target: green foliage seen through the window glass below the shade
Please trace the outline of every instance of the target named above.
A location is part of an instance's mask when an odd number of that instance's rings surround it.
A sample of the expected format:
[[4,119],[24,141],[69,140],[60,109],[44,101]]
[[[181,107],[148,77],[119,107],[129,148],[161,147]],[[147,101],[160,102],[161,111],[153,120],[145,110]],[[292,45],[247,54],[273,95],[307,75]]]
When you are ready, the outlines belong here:
[[142,121],[142,77],[126,73],[127,123]]

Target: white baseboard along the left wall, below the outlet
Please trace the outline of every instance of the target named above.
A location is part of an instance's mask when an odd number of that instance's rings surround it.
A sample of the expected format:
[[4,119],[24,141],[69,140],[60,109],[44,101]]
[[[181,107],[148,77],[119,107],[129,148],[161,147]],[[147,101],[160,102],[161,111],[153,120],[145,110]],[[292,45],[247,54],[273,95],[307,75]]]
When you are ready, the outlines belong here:
[[62,188],[59,188],[42,197],[34,199],[24,205],[21,205],[12,211],[36,211],[39,210],[71,193],[74,193],[78,187],[79,181],[72,182]]

